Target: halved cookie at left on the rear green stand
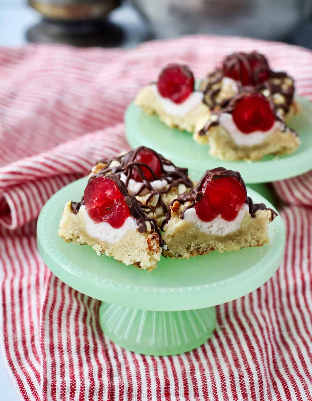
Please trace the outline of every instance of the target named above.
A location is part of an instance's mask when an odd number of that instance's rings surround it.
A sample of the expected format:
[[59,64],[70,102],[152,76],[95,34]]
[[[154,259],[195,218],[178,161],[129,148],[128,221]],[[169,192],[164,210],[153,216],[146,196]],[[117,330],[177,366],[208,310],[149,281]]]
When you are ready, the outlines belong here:
[[194,77],[186,65],[170,64],[156,83],[141,89],[134,102],[147,114],[156,114],[169,127],[194,131],[200,117],[209,117],[204,94],[194,89]]

